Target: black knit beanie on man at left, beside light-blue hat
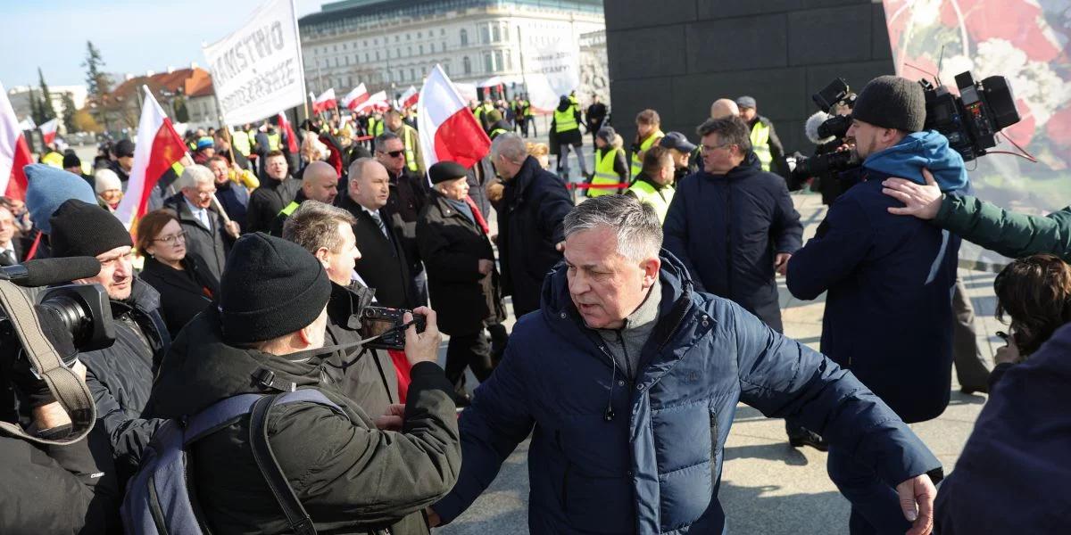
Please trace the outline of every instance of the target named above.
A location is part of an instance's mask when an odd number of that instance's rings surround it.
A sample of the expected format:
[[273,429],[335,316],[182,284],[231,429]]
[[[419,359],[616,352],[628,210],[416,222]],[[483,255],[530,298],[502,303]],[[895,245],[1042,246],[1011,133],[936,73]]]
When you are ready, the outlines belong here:
[[116,216],[96,204],[71,199],[51,218],[52,257],[95,257],[116,247],[133,246],[131,234]]

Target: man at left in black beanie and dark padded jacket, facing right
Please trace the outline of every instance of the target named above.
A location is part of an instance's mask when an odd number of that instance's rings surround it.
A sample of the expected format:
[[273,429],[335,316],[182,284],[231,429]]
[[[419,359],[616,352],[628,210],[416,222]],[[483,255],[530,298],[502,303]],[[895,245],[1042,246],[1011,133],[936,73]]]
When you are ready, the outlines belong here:
[[116,341],[80,353],[79,360],[88,369],[86,385],[96,403],[96,425],[108,434],[124,485],[161,424],[141,418],[156,368],[171,343],[159,311],[160,294],[134,275],[130,233],[104,209],[72,199],[60,205],[49,224],[55,258],[90,256],[101,261],[101,273],[75,282],[99,284],[107,291]]

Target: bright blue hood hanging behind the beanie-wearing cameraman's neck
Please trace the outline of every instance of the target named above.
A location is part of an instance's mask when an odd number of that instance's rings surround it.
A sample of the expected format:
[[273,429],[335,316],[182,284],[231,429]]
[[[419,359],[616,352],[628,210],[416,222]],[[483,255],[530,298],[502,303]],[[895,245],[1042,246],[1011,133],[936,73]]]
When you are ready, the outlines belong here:
[[925,184],[922,168],[930,169],[941,192],[966,190],[969,187],[963,156],[950,150],[948,139],[937,131],[908,134],[901,142],[871,154],[863,167]]

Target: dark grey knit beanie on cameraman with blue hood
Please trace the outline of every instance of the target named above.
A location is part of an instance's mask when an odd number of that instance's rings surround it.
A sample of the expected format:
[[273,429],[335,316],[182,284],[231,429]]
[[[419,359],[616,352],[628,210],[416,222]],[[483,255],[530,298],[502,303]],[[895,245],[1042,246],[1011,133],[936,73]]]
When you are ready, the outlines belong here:
[[926,122],[922,86],[900,76],[878,76],[859,92],[851,117],[883,128],[919,132]]

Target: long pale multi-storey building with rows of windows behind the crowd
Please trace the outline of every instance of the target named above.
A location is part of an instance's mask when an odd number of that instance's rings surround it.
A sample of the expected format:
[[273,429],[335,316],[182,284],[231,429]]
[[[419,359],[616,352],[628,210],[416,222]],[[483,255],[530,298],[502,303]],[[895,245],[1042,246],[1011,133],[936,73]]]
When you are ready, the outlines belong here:
[[362,82],[392,96],[420,89],[436,63],[454,81],[497,76],[519,91],[522,37],[579,42],[605,29],[602,0],[347,0],[299,26],[310,91],[338,97]]

